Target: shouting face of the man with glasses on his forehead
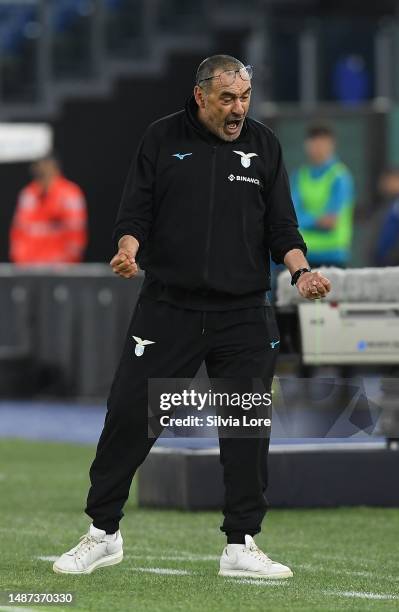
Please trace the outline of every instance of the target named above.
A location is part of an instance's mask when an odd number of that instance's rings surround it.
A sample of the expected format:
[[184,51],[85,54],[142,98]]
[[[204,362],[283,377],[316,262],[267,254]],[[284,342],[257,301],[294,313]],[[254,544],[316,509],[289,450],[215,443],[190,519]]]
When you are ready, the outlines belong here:
[[[220,71],[216,71],[218,74]],[[207,89],[196,85],[194,96],[199,106],[199,117],[210,132],[227,141],[239,137],[251,99],[250,81],[244,81],[239,73],[228,87],[220,79],[212,79],[208,81]]]

